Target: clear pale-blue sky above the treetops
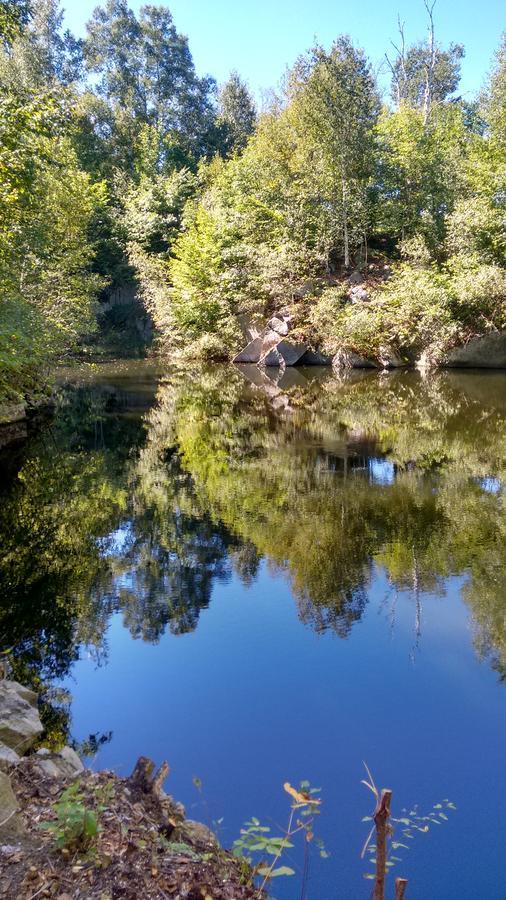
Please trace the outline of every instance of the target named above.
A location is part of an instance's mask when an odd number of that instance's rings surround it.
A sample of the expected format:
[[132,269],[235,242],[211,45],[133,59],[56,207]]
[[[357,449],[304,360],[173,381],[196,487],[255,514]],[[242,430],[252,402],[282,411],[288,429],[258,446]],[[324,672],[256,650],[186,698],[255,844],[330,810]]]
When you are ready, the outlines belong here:
[[[84,34],[96,0],[62,0],[62,5],[67,26]],[[132,0],[130,5],[137,10],[141,4]],[[406,23],[408,42],[426,34],[422,0],[171,0],[163,5],[169,6],[178,31],[188,35],[200,74],[224,81],[237,69],[257,97],[278,83],[286,66],[315,37],[329,45],[338,34],[349,34],[380,67],[384,87],[388,76],[382,60],[390,39],[396,38],[397,13]],[[438,0],[435,16],[438,41],[466,48],[461,93],[472,96],[506,30],[504,0]]]

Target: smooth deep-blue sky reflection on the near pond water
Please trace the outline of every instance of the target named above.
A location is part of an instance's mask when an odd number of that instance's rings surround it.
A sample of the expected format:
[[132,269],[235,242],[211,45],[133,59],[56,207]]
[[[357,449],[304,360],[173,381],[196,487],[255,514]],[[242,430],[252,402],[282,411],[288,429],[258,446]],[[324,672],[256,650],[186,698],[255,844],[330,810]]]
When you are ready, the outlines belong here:
[[[121,774],[140,754],[167,758],[167,790],[205,819],[198,775],[210,817],[224,816],[225,845],[252,815],[285,820],[284,781],[321,787],[317,830],[332,856],[312,863],[311,900],[368,896],[359,858],[370,813],[365,759],[393,788],[397,814],[414,803],[424,814],[446,797],[457,805],[437,834],[398,854],[395,873],[409,878],[413,900],[504,900],[506,686],[476,657],[462,584],[447,579],[444,599],[422,595],[414,664],[415,600],[393,594],[374,568],[370,603],[346,640],[304,625],[288,580],[265,562],[249,588],[235,575],[215,582],[191,633],[134,641],[117,614],[108,665],[81,658],[66,682],[74,734],[112,730],[97,764]],[[300,858],[285,862],[298,869]],[[278,900],[298,896],[294,884],[278,879]]]

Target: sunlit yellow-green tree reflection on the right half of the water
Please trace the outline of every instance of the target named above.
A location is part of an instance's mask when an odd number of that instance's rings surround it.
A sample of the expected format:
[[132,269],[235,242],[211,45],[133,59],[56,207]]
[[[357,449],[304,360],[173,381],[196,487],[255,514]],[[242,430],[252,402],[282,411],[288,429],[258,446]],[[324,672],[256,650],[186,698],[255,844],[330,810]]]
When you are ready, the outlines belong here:
[[261,382],[245,395],[239,375],[207,373],[160,389],[153,446],[169,422],[202,507],[287,572],[304,621],[345,635],[374,565],[418,610],[463,574],[476,647],[505,670],[502,376]]

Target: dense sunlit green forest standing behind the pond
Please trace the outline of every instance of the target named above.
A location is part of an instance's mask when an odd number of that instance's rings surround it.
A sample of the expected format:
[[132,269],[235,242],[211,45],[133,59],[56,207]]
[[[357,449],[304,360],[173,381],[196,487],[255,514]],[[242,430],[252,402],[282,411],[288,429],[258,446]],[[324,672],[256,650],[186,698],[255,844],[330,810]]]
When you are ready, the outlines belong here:
[[197,74],[164,6],[108,0],[78,40],[58,0],[2,0],[0,394],[114,333],[118,296],[160,351],[208,359],[287,306],[331,353],[437,360],[503,329],[506,44],[464,101],[427,12],[428,40],[399,23],[390,98],[341,36],[259,112],[239,74]]

